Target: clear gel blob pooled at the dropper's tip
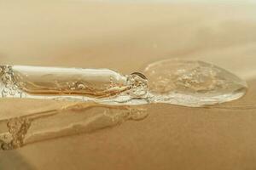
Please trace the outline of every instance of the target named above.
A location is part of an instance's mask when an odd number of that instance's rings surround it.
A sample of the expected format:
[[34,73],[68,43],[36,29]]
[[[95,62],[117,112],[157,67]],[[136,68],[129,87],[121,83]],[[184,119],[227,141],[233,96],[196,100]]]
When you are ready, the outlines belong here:
[[247,83],[216,65],[198,60],[166,59],[148,65],[150,101],[198,107],[239,99]]

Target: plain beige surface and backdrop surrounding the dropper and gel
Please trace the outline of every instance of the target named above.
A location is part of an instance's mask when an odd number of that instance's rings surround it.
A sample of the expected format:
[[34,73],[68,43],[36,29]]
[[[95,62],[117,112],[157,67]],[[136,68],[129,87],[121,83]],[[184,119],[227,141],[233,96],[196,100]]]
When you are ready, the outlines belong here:
[[[212,109],[149,105],[140,122],[0,152],[1,170],[256,169],[256,5],[7,2],[2,64],[128,74],[159,59],[197,58],[235,72],[249,90]],[[1,102],[2,114],[19,111]]]

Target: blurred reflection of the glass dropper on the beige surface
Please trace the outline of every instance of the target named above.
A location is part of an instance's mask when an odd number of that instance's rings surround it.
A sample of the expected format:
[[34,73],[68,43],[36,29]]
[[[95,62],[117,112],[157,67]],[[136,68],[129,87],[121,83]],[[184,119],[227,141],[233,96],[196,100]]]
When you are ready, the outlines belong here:
[[0,150],[12,150],[24,144],[76,133],[90,133],[126,120],[141,120],[148,115],[146,109],[143,105],[83,102],[26,116],[0,119]]

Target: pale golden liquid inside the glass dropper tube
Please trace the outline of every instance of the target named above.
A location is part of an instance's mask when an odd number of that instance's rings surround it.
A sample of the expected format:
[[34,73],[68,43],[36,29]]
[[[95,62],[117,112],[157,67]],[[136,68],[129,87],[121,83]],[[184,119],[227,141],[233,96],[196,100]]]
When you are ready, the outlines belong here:
[[18,87],[29,94],[104,97],[129,88],[127,77],[109,69],[12,66]]

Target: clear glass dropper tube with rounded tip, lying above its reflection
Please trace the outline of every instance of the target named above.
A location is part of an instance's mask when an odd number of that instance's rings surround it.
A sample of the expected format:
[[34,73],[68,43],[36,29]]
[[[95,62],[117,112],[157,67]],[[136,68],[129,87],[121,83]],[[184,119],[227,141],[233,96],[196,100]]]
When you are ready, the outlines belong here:
[[143,74],[122,75],[109,69],[3,65],[0,77],[3,98],[106,100],[148,93]]

